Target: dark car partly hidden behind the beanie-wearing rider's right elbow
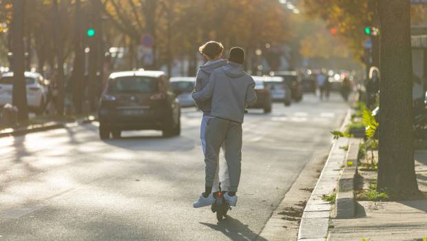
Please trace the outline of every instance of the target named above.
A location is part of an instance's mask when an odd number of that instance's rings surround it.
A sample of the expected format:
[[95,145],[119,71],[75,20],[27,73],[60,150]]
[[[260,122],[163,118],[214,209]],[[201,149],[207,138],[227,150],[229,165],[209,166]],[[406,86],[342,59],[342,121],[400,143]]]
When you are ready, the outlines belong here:
[[265,76],[252,76],[255,81],[255,92],[257,101],[255,105],[248,107],[250,109],[264,109],[264,113],[271,112],[271,91],[267,85]]

